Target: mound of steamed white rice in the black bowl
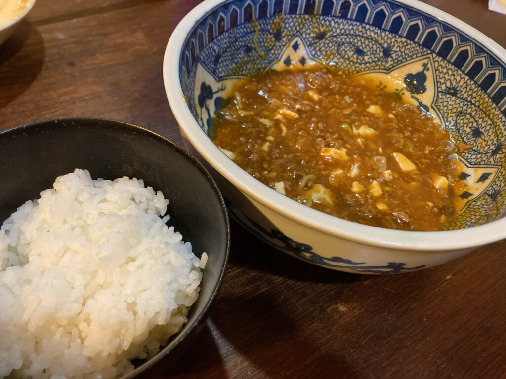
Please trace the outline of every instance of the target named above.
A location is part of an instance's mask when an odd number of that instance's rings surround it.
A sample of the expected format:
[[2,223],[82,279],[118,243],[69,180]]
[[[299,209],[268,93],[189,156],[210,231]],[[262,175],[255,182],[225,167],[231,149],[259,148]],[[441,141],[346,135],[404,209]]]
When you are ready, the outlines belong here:
[[165,225],[167,204],[76,169],[4,222],[0,377],[115,377],[181,329],[207,256]]

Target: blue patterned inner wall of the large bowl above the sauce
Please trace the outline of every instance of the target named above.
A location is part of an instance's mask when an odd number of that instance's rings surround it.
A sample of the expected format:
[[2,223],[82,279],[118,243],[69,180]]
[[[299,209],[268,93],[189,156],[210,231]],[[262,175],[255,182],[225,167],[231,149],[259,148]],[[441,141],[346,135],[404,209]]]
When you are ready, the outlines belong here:
[[506,67],[483,44],[395,1],[231,0],[201,18],[180,57],[188,106],[212,134],[232,83],[272,68],[324,63],[403,78],[393,90],[430,112],[455,142],[467,188],[451,229],[506,214]]

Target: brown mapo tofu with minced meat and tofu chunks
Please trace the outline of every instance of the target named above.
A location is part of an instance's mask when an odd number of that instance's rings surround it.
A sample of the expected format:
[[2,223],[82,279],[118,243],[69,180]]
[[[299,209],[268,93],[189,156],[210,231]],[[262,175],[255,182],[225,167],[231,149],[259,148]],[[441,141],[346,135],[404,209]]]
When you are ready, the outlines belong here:
[[217,111],[214,143],[263,183],[367,225],[444,230],[457,157],[435,118],[325,67],[269,71]]

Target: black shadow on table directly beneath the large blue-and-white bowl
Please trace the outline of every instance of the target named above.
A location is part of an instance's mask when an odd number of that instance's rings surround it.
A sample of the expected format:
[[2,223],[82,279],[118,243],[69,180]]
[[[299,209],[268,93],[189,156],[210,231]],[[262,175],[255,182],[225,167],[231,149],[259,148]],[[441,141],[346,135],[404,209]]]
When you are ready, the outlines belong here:
[[352,283],[364,281],[370,275],[330,270],[284,254],[255,238],[234,220],[231,225],[229,261],[240,267],[261,270],[277,276],[318,283]]

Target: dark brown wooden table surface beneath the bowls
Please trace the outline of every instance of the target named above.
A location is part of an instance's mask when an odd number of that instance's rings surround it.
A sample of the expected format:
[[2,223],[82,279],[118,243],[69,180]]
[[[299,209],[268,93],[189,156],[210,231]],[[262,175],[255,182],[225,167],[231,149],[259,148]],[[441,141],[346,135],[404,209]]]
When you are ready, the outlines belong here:
[[[426,1],[506,47],[485,0]],[[120,119],[181,143],[162,58],[197,0],[38,0],[0,47],[0,129]],[[227,275],[176,378],[506,377],[506,241],[425,271],[333,272],[232,225]]]

